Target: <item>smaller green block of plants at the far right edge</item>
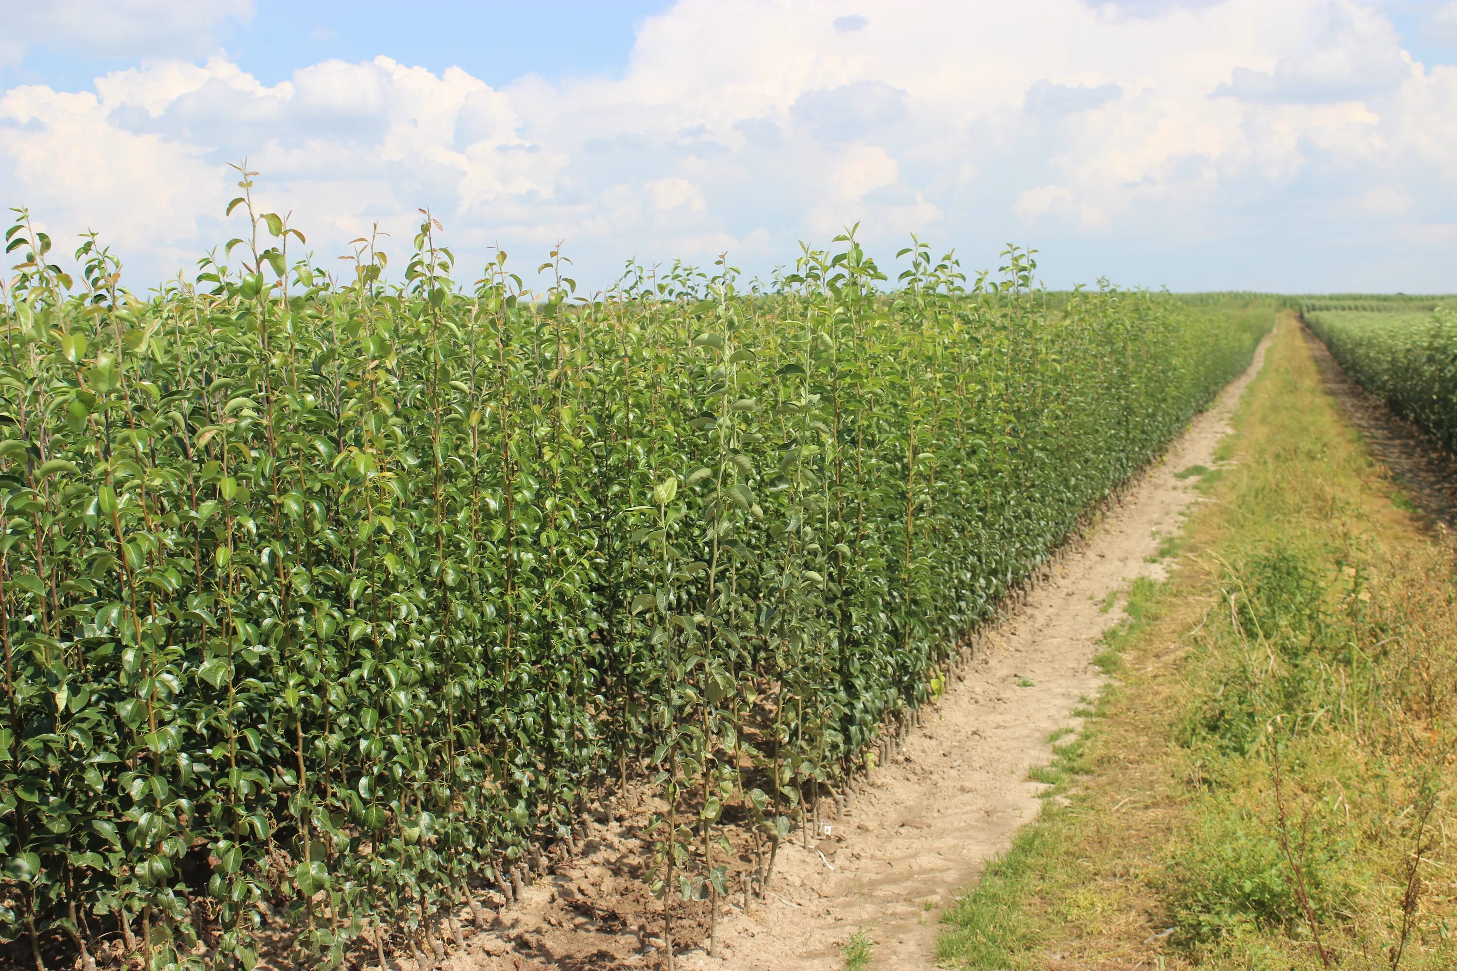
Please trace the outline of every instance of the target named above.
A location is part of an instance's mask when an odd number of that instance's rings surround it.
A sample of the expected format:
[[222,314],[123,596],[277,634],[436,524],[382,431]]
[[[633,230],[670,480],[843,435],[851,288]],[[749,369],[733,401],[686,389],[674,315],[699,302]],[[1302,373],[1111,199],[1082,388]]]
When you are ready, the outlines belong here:
[[1442,307],[1304,316],[1352,380],[1457,451],[1457,316]]

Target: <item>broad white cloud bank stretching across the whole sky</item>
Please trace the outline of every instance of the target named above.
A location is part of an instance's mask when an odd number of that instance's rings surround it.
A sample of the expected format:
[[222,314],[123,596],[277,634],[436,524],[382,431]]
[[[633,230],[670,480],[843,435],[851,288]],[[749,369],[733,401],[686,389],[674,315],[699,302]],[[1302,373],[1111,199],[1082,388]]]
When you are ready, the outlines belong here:
[[[195,36],[246,16],[211,10]],[[1440,245],[1416,220],[1457,223],[1438,202],[1457,199],[1457,68],[1413,64],[1356,0],[1042,0],[1036,17],[680,0],[615,79],[492,87],[379,57],[267,86],[214,54],[143,60],[95,93],[3,92],[0,127],[0,201],[95,226],[157,272],[232,234],[226,163],[245,156],[321,255],[374,221],[398,246],[425,205],[465,259],[565,239],[584,282],[631,255],[730,250],[765,272],[860,220],[881,250],[915,230],[1074,255],[1214,246],[1294,213],[1412,246]],[[1069,272],[1118,256],[1088,245]]]

